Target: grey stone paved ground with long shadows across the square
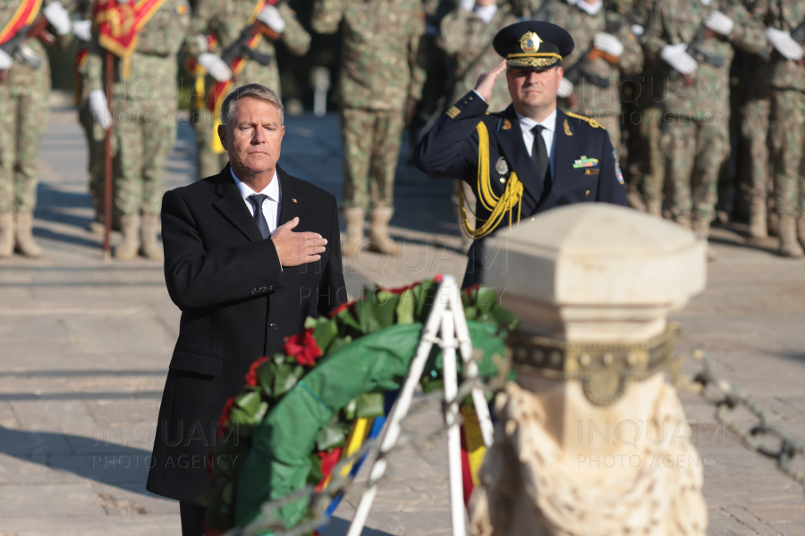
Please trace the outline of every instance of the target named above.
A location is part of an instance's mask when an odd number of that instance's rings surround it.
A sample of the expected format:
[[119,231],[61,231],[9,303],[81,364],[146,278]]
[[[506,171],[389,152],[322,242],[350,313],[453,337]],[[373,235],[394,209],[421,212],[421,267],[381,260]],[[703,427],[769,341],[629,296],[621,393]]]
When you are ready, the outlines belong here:
[[[337,195],[339,143],[335,116],[288,118],[281,163]],[[182,127],[169,186],[191,180],[193,147]],[[144,483],[179,313],[159,264],[101,260],[99,239],[85,230],[84,151],[75,113],[55,102],[39,159],[36,234],[46,254],[0,263],[0,536],[176,535],[176,504],[148,494]],[[360,255],[346,269],[353,294],[376,281],[462,273],[451,189],[402,166],[393,223],[405,255],[392,262]],[[714,234],[720,256],[708,289],[678,315],[683,346],[707,348],[719,373],[805,438],[805,262],[771,255],[773,240],[744,244],[740,228]],[[709,533],[805,534],[802,489],[772,462],[710,435],[710,408],[682,398],[700,455],[711,455]],[[410,426],[438,423],[431,405]],[[445,475],[443,443],[402,450],[365,534],[447,534]],[[354,498],[343,503],[326,535],[345,532],[353,506]]]

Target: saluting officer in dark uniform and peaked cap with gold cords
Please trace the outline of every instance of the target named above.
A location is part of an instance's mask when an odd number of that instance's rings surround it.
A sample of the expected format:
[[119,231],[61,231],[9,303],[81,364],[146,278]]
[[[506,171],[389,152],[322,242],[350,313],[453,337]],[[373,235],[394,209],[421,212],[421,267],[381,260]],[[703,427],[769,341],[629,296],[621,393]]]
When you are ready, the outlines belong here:
[[[497,254],[481,240],[501,226],[534,214],[589,201],[626,206],[617,155],[597,121],[556,107],[563,81],[562,58],[573,39],[548,22],[517,22],[492,42],[505,59],[481,75],[473,91],[447,110],[414,151],[417,167],[437,177],[465,180],[477,204],[471,229],[462,206],[464,229],[476,239],[462,288],[480,281],[485,264]],[[487,113],[497,77],[506,71],[512,105]]]

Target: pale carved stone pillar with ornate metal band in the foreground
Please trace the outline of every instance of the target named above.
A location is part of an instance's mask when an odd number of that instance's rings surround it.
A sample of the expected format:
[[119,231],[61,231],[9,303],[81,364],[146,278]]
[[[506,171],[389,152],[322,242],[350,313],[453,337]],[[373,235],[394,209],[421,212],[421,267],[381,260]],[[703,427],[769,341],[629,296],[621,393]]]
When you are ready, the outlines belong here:
[[706,245],[598,203],[497,236],[484,283],[521,319],[518,380],[496,401],[473,534],[704,534],[701,463],[663,371],[667,315],[704,289]]

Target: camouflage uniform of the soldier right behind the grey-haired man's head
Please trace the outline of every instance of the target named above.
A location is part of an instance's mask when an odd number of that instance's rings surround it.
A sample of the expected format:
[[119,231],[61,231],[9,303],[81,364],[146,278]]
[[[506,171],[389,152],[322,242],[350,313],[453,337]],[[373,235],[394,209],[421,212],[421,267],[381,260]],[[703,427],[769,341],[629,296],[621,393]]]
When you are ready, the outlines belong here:
[[[199,46],[198,36],[212,34],[217,39],[217,47],[210,52],[221,54],[228,46],[233,45],[241,37],[243,29],[249,26],[252,14],[255,13],[256,0],[199,0],[196,11],[191,20],[191,29],[187,35],[187,51],[198,56],[203,50]],[[307,54],[310,47],[310,35],[296,20],[296,13],[286,2],[276,4],[277,10],[285,21],[282,41],[293,54]],[[235,80],[235,85],[258,83],[271,88],[282,96],[279,70],[276,66],[274,44],[263,38],[256,48],[257,52],[271,56],[272,62],[261,65],[257,62],[247,62],[243,71]],[[211,88],[216,83],[212,77],[206,77],[204,88]],[[208,108],[207,99],[203,101],[193,113],[193,125],[196,129],[198,151],[196,162],[198,164],[198,178],[203,179],[216,175],[229,162],[225,152],[216,153],[212,149],[213,137],[217,137],[213,113]]]

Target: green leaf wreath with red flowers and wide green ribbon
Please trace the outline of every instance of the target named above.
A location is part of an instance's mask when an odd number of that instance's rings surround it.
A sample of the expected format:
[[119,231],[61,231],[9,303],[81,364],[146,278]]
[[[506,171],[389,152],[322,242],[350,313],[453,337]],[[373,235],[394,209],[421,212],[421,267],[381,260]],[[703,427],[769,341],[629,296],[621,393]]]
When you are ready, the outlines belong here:
[[[329,317],[308,318],[283,353],[251,365],[219,419],[223,433],[208,464],[214,484],[202,497],[207,536],[254,520],[266,500],[325,485],[355,419],[384,415],[386,391],[404,381],[440,281],[368,290]],[[495,376],[505,333],[518,321],[495,289],[465,290],[462,302],[473,347],[484,354],[480,374]],[[421,381],[426,392],[442,387],[441,358],[435,347]],[[301,500],[278,516],[291,527],[307,514]]]

